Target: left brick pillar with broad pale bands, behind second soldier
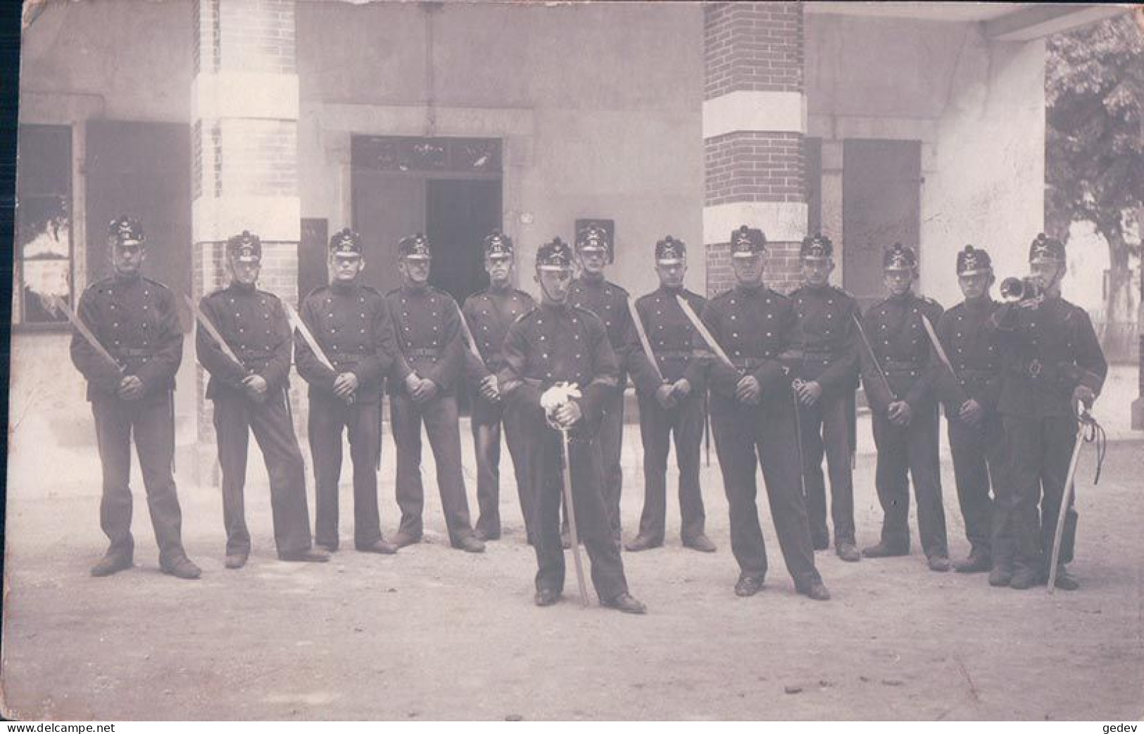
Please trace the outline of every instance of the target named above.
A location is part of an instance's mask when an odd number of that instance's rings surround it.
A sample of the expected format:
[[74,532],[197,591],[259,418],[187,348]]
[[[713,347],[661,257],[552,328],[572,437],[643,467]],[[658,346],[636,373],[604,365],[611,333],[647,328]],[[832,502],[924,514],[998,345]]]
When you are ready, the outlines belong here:
[[[191,81],[192,286],[227,284],[227,238],[262,238],[260,288],[297,303],[301,205],[294,0],[194,0]],[[214,426],[198,370],[198,469],[214,464]],[[199,472],[200,479],[214,472]]]

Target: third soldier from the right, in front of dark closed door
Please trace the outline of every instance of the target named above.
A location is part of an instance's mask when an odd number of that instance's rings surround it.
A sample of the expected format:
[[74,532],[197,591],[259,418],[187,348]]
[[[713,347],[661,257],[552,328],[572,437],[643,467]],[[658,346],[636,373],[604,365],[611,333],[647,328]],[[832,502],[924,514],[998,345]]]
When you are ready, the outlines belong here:
[[909,555],[912,477],[922,550],[929,568],[950,571],[937,398],[929,372],[932,346],[922,322],[925,318],[936,324],[942,318],[942,306],[914,295],[917,257],[913,249],[896,242],[885,250],[882,270],[890,295],[866,311],[863,327],[874,353],[861,351],[863,384],[877,446],[874,481],[883,512],[882,540],[864,549],[863,555],[867,558]]

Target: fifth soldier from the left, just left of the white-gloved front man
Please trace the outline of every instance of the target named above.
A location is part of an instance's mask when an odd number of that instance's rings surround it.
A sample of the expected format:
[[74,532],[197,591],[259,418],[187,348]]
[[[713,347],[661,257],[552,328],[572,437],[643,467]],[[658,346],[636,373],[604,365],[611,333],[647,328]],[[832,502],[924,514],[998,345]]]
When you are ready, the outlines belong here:
[[472,335],[478,359],[466,351],[466,373],[474,390],[472,398],[472,444],[477,456],[477,518],[475,534],[479,540],[494,541],[501,536],[500,521],[500,434],[505,425],[505,441],[513,458],[516,489],[524,513],[525,535],[531,543],[533,532],[532,492],[526,481],[526,470],[521,447],[521,432],[514,415],[505,409],[498,389],[496,373],[505,362],[501,349],[508,327],[518,318],[532,311],[535,302],[527,293],[513,287],[513,239],[499,231],[485,238],[485,272],[488,288],[475,293],[464,301],[464,320]]

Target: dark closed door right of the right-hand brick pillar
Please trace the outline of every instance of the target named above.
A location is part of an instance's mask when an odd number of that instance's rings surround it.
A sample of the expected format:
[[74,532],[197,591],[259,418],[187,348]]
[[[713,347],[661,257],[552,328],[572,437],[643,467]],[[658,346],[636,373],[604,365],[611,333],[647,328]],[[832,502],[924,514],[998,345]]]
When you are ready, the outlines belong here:
[[882,252],[919,248],[921,142],[845,141],[842,149],[843,286],[863,309],[884,297]]

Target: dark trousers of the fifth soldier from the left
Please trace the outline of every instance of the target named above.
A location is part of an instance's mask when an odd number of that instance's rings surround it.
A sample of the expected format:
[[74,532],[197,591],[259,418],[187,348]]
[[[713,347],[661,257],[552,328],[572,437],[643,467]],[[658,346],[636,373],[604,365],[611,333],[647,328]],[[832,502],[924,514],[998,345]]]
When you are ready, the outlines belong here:
[[524,514],[525,534],[531,540],[533,530],[530,525],[532,517],[532,490],[529,488],[527,470],[524,466],[524,447],[521,445],[521,431],[516,425],[515,412],[505,405],[503,400],[488,402],[484,398],[472,398],[472,445],[477,455],[477,505],[479,517],[477,529],[486,537],[498,537],[501,534],[500,521],[500,434],[505,425],[505,442],[513,458],[513,474],[516,477],[516,492],[521,497],[521,512]]

